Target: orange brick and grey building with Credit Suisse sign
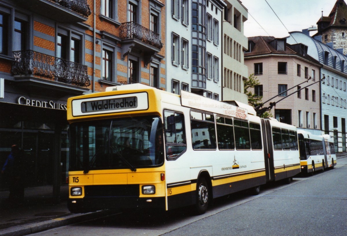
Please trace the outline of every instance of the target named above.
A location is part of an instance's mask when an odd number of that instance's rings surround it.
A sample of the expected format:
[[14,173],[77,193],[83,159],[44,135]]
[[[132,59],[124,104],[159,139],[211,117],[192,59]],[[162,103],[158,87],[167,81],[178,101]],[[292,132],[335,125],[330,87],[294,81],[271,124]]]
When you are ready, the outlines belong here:
[[165,4],[1,1],[0,165],[17,144],[26,186],[53,185],[59,195],[68,169],[67,98],[128,83],[166,88]]

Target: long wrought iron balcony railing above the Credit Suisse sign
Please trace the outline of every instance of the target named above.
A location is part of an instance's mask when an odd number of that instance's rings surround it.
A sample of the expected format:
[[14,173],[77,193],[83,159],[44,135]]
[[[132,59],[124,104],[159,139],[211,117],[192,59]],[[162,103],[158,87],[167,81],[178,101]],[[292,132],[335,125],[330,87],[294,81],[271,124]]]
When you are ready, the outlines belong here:
[[35,75],[77,86],[89,86],[88,67],[32,50],[14,51],[12,75]]

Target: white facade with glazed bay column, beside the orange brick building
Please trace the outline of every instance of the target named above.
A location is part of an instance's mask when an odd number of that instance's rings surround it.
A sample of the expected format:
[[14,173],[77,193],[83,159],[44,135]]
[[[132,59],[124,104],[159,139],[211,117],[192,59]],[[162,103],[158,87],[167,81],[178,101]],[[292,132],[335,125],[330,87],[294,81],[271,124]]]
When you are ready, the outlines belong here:
[[166,6],[166,90],[221,99],[220,0],[173,0]]

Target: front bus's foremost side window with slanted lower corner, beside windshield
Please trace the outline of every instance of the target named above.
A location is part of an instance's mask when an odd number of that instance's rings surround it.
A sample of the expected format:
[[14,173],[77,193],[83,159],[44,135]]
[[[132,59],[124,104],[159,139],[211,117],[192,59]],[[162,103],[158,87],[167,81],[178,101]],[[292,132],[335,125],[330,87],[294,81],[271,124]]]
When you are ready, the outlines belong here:
[[166,158],[175,160],[187,149],[184,116],[174,111],[164,111]]

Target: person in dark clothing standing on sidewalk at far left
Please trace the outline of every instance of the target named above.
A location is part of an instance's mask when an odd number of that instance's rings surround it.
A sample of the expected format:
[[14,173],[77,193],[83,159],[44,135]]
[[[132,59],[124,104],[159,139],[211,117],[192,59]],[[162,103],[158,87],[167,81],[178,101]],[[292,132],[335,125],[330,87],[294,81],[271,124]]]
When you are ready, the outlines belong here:
[[1,174],[9,184],[10,203],[21,203],[24,198],[24,160],[23,154],[17,145],[12,145],[11,152],[8,155],[5,164],[1,169]]

